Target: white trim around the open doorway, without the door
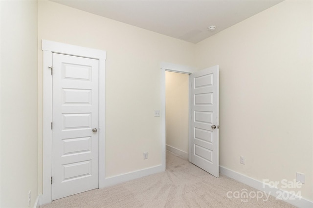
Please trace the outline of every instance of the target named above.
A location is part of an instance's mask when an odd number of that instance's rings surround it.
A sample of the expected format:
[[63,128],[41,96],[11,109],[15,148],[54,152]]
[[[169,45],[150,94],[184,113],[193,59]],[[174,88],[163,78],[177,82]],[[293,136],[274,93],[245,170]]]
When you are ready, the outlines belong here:
[[[165,171],[165,154],[166,154],[166,123],[165,123],[165,71],[178,72],[183,74],[191,74],[197,71],[197,68],[179,65],[175,63],[162,62],[161,63],[161,146],[162,146],[162,168]],[[190,109],[189,109],[190,114]],[[190,115],[189,115],[190,117]],[[189,135],[190,146],[190,135]],[[188,148],[188,160],[190,161],[190,148]]]

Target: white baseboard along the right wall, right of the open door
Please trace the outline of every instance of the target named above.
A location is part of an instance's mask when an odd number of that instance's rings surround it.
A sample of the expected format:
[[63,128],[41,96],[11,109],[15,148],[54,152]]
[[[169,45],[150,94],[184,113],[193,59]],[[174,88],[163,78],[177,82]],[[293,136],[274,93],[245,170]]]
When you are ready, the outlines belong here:
[[[270,194],[271,196],[282,198],[283,201],[291,205],[294,205],[298,208],[313,208],[313,202],[307,199],[298,197],[294,194],[291,194],[288,191],[281,190],[276,187],[270,187],[261,181],[255,180],[241,173],[227,169],[226,167],[220,166],[220,173],[232,179],[235,179],[236,181],[239,181],[243,184],[246,184],[250,187],[254,187],[258,190],[264,191],[267,194]],[[286,199],[284,199],[284,197],[281,197],[281,196],[288,196],[288,197],[285,197]]]

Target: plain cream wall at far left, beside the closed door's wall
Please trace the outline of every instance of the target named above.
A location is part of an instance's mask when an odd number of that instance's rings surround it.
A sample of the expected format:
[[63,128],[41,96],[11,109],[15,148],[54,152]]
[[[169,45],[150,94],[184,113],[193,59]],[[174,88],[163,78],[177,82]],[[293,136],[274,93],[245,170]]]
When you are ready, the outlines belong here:
[[37,190],[37,1],[1,0],[1,204],[31,207]]

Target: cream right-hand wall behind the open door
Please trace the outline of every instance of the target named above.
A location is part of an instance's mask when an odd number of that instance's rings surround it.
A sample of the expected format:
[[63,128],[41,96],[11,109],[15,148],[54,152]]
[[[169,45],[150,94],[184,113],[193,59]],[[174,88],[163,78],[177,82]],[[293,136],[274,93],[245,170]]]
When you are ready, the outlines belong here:
[[312,8],[284,1],[196,45],[199,68],[220,65],[220,165],[259,181],[305,173],[285,189],[311,201]]

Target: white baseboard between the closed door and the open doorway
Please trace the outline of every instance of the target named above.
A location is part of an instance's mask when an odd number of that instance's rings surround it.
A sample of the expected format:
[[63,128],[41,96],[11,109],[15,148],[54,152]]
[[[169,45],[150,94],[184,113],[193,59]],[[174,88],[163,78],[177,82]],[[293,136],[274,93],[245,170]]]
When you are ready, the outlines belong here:
[[[116,184],[120,184],[123,182],[127,182],[130,180],[134,180],[137,178],[141,178],[144,176],[148,176],[151,174],[164,172],[164,171],[165,171],[165,166],[159,165],[159,166],[154,166],[154,167],[149,167],[149,168],[137,170],[134,172],[129,172],[129,173],[125,173],[125,174],[121,174],[121,175],[117,175],[117,176],[108,177],[105,179],[103,187],[110,187],[110,186],[113,186]],[[103,188],[103,187],[99,187],[99,188]]]

